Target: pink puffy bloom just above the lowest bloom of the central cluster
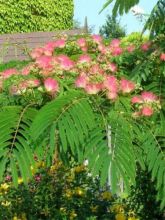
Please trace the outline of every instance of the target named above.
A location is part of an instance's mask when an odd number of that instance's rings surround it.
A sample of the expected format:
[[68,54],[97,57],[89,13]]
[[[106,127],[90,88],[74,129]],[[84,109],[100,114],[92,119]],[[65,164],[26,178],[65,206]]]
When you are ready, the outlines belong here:
[[107,76],[103,84],[104,84],[104,87],[108,89],[111,93],[117,93],[118,82],[115,76]]

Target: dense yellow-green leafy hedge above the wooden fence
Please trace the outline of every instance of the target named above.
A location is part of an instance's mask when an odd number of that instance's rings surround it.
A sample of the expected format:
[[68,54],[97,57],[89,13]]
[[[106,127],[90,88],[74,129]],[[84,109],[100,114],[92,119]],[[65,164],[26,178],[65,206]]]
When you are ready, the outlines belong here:
[[2,0],[0,33],[71,29],[73,0]]

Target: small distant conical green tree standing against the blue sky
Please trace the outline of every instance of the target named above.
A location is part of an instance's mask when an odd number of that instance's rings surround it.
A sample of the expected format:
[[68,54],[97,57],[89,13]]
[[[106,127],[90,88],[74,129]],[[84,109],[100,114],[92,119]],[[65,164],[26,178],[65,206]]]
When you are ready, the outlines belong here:
[[106,23],[100,28],[99,33],[105,38],[121,38],[125,36],[125,28],[121,27],[117,18],[107,15]]

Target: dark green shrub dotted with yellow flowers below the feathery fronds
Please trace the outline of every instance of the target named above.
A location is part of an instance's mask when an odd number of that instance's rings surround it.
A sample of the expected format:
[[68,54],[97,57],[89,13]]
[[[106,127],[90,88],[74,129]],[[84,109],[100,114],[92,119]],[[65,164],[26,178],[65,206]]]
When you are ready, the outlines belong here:
[[66,168],[56,162],[45,168],[41,161],[31,169],[28,188],[20,178],[15,189],[9,176],[0,185],[2,219],[136,219],[109,190],[100,188],[99,179],[92,178],[85,165]]

